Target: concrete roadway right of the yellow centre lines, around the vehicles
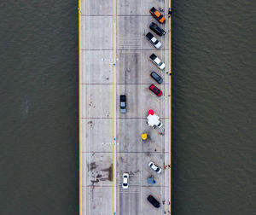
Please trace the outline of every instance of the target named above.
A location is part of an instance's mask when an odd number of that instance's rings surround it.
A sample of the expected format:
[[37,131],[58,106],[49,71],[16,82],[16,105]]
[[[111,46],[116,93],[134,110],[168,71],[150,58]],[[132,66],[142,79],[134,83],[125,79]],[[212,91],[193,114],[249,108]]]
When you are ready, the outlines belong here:
[[[168,3],[159,1],[119,1],[118,3],[118,95],[127,96],[127,110],[125,114],[119,113],[118,118],[118,175],[119,175],[119,208],[118,214],[164,214],[168,212],[169,199],[169,170],[158,175],[148,168],[148,162],[153,160],[162,167],[169,164],[169,38],[158,37],[163,47],[156,50],[148,43],[145,34],[149,31],[148,25],[154,18],[148,10],[154,6],[168,9]],[[166,7],[164,6],[166,4]],[[168,19],[161,27],[168,32]],[[166,63],[164,72],[154,67],[148,61],[152,53],[160,56]],[[149,74],[155,71],[164,78],[163,84],[156,84]],[[158,98],[149,90],[149,84],[156,84],[164,96]],[[160,136],[158,131],[146,125],[147,111],[153,108],[161,117],[165,133]],[[140,135],[148,132],[150,140],[143,142]],[[154,151],[156,149],[156,152]],[[122,189],[122,174],[129,172],[130,187]],[[154,175],[157,183],[148,185],[147,178]],[[167,204],[155,209],[149,205],[149,194],[160,202],[166,200]]]

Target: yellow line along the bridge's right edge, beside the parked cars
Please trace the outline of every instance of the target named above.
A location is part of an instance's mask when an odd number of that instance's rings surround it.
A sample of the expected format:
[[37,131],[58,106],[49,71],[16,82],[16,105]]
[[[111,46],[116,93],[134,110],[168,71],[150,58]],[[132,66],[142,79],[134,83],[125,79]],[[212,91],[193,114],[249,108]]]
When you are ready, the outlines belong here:
[[[172,0],[169,0],[169,7],[172,9]],[[172,15],[170,16],[169,20],[169,67],[170,67],[170,73],[172,74]],[[170,107],[170,148],[169,148],[169,160],[170,160],[170,180],[169,180],[169,188],[170,188],[170,206],[169,211],[172,214],[172,75],[169,76],[169,107]]]

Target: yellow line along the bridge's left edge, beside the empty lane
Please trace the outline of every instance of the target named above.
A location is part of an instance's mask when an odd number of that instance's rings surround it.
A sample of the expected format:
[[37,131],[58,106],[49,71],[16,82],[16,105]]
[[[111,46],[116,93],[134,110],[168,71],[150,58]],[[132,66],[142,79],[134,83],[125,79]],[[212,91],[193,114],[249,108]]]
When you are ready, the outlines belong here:
[[82,158],[81,158],[81,0],[79,0],[79,214],[82,215]]

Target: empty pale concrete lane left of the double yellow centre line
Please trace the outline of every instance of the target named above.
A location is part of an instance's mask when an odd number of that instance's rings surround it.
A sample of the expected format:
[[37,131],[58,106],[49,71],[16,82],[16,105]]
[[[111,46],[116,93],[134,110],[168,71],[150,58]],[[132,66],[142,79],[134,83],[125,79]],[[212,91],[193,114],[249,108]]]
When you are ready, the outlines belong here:
[[[102,1],[101,1],[102,2]],[[105,3],[108,2],[108,3]],[[113,214],[115,80],[111,1],[82,1],[82,214]],[[101,5],[99,7],[99,4]]]

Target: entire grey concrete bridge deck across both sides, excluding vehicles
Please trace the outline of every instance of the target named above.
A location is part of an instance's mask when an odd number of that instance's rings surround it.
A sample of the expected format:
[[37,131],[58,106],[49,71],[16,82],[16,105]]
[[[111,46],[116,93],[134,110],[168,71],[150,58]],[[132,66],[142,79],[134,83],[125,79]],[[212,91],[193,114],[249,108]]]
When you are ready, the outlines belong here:
[[[166,24],[154,20],[151,7],[165,9]],[[81,211],[83,215],[168,214],[170,200],[170,68],[169,19],[166,0],[81,0]],[[154,21],[166,30],[159,37],[148,26]],[[162,43],[154,49],[145,38],[152,32]],[[154,53],[166,63],[160,71],[148,60]],[[164,79],[157,84],[149,74]],[[163,91],[157,97],[148,90],[155,84]],[[127,113],[119,112],[119,96],[127,97]],[[146,124],[148,109],[160,116],[163,127]],[[147,132],[148,140],[141,134]],[[160,135],[158,132],[164,133]],[[148,168],[154,161],[157,174]],[[128,172],[129,188],[122,188]],[[153,175],[156,183],[148,184]],[[160,201],[154,208],[148,195]],[[163,205],[162,201],[166,200]]]

